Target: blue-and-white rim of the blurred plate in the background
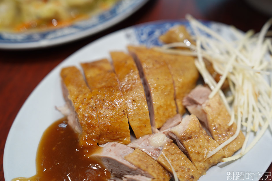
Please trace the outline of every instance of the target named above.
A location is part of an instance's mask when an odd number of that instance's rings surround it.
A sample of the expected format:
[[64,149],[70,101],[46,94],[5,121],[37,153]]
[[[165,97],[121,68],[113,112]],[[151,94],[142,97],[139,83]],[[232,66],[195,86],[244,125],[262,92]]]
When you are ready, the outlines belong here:
[[148,0],[122,0],[110,10],[60,29],[36,33],[0,32],[0,49],[43,48],[93,35],[124,20],[142,7],[147,1]]

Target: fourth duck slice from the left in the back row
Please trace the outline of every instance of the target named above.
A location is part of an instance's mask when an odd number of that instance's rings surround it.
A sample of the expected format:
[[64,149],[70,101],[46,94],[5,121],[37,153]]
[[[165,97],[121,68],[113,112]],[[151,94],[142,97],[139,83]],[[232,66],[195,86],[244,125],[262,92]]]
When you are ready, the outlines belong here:
[[143,78],[152,131],[176,115],[174,85],[165,60],[154,50],[128,47]]

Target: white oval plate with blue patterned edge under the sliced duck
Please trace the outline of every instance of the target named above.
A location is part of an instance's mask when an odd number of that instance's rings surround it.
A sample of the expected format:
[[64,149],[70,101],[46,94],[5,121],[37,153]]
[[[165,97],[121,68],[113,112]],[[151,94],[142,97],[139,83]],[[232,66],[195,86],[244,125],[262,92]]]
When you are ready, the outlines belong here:
[[[36,173],[35,158],[40,138],[49,125],[62,118],[54,108],[64,104],[59,76],[62,67],[79,67],[81,62],[109,58],[109,51],[126,51],[128,44],[159,45],[158,36],[176,24],[185,24],[188,27],[185,21],[159,21],[117,31],[88,44],[55,67],[25,101],[10,129],[3,159],[5,180],[30,177]],[[228,39],[234,38],[227,25],[215,22],[205,24]],[[262,176],[272,161],[271,143],[271,133],[267,131],[244,157],[213,166],[199,180],[230,180],[228,176],[239,175],[236,172],[244,174],[244,180],[246,176],[248,180],[251,177],[252,180],[258,180],[258,176]]]

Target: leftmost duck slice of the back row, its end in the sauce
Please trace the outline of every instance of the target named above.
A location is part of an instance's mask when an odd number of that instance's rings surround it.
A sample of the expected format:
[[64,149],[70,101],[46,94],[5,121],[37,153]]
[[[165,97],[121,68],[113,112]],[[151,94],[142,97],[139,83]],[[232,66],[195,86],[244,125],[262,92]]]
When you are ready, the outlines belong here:
[[93,93],[76,67],[63,68],[62,92],[70,109],[68,124],[79,134],[83,146],[96,145],[100,135]]

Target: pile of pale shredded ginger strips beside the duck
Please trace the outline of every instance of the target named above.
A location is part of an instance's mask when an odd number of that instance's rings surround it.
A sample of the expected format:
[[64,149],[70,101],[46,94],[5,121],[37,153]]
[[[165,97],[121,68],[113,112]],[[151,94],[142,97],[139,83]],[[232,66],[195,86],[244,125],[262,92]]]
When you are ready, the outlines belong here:
[[[246,135],[241,152],[222,161],[238,159],[258,142],[268,126],[272,130],[272,45],[271,39],[266,38],[272,18],[264,24],[260,33],[255,35],[252,30],[242,33],[230,27],[236,37],[233,41],[226,40],[190,15],[186,18],[193,30],[192,37],[196,45],[187,46],[184,42],[176,42],[156,49],[195,57],[198,71],[212,90],[209,98],[218,93],[231,116],[228,125],[232,125],[233,122],[237,124],[234,135],[208,152],[206,159],[232,142],[243,125],[246,127]],[[177,47],[183,47],[183,49],[173,49]],[[188,50],[184,50],[186,47]],[[206,69],[203,58],[210,61],[215,71],[222,75],[218,83]],[[221,90],[225,81],[228,81],[230,87],[228,96]],[[252,132],[256,135],[249,143],[249,135]]]

